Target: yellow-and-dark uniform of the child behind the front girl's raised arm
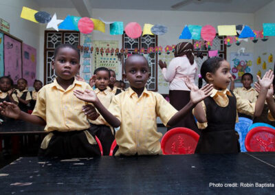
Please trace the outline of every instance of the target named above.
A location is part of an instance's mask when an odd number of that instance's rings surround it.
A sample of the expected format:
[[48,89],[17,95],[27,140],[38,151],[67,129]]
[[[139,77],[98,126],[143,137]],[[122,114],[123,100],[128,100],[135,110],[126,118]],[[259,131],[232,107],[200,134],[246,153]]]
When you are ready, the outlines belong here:
[[[233,93],[239,95],[241,98],[245,100],[249,100],[250,103],[256,102],[259,93],[251,87],[250,89],[246,89],[245,87],[238,87],[233,89]],[[238,113],[239,117],[247,117],[252,119],[250,115],[245,115],[243,113]]]

